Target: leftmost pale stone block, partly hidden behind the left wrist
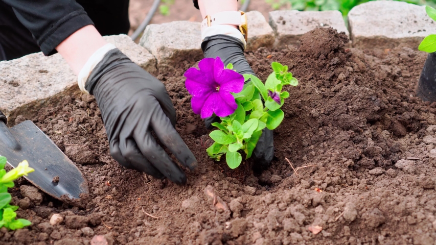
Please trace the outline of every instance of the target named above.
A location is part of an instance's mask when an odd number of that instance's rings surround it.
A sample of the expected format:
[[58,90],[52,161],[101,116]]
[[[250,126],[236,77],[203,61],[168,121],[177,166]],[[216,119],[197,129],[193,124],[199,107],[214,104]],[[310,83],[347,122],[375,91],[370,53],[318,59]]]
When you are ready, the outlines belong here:
[[[133,62],[151,73],[156,61],[145,48],[127,35],[106,36]],[[17,115],[35,115],[39,108],[56,104],[64,95],[80,93],[77,76],[59,54],[45,57],[41,52],[0,62],[0,109],[13,125]]]

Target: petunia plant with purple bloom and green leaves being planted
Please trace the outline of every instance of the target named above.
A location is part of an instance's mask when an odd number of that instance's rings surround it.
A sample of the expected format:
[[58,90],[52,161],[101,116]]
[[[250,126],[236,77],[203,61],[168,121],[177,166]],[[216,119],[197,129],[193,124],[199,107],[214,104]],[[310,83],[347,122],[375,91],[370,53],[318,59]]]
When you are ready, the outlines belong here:
[[194,113],[201,118],[214,114],[220,118],[212,124],[217,129],[209,135],[215,142],[206,151],[216,160],[225,154],[232,169],[241,164],[241,152],[245,159],[251,157],[263,129],[273,130],[281,124],[285,113],[280,108],[289,97],[283,86],[298,84],[288,66],[278,62],[271,66],[274,72],[265,84],[254,75],[238,74],[232,64],[224,67],[219,57],[204,58],[199,69],[185,72]]

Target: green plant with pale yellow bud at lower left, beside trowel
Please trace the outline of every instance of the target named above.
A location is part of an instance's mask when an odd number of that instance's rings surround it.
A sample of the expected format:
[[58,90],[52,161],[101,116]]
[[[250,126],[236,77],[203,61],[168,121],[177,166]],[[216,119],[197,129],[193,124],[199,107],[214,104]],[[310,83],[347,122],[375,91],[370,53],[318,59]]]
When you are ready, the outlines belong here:
[[6,157],[0,156],[0,228],[6,227],[9,230],[16,230],[30,226],[32,223],[23,218],[15,219],[17,216],[15,211],[18,207],[9,204],[12,196],[8,193],[8,187],[14,187],[14,180],[21,176],[27,176],[34,169],[29,167],[29,163],[25,160],[20,162],[16,168],[6,173],[4,169],[6,162]]

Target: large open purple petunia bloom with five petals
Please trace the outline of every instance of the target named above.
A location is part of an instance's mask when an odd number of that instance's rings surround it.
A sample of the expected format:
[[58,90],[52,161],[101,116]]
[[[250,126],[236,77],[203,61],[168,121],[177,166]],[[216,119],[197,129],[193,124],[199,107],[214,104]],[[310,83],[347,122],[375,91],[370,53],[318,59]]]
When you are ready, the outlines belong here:
[[191,106],[201,118],[224,117],[235,112],[238,105],[231,92],[239,93],[244,87],[244,77],[231,69],[224,69],[221,59],[204,58],[185,72],[186,89],[192,95]]

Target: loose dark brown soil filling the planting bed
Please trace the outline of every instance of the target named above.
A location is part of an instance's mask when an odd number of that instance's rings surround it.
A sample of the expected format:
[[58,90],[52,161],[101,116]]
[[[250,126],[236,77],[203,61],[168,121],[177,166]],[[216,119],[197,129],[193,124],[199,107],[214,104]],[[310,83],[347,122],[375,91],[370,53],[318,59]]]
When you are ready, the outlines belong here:
[[[345,50],[347,41],[317,29],[305,34],[300,50],[247,54],[262,80],[279,61],[300,85],[287,88],[271,167],[247,173],[243,183],[206,155],[208,130],[190,109],[182,77],[194,64],[158,76],[199,162],[187,186],[112,160],[93,97],[65,97],[40,110],[29,119],[77,163],[91,198],[85,208],[47,195],[42,202],[25,198],[29,191],[19,187],[29,183],[20,180],[13,201],[33,225],[2,230],[0,242],[88,244],[105,235],[109,244],[434,244],[436,169],[428,154],[436,144],[436,103],[414,92],[426,54]],[[286,158],[293,167],[315,166],[297,175]],[[63,217],[60,225],[49,224],[54,213]]]

